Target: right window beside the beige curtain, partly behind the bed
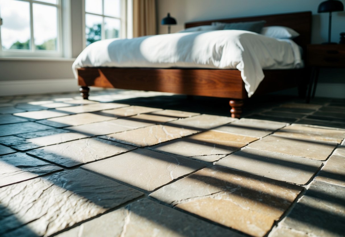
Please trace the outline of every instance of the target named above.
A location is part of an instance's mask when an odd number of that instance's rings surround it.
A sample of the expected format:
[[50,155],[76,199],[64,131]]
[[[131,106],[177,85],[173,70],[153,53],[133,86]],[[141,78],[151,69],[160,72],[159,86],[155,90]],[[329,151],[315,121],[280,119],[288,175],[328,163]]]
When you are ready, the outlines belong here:
[[85,46],[126,37],[126,0],[85,0]]

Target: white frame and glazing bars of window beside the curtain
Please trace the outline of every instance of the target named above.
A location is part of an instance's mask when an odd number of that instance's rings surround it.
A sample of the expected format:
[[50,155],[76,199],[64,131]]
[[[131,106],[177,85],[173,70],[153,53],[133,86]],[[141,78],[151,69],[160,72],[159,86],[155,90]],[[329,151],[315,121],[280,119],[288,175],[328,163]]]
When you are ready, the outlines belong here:
[[83,48],[86,47],[86,21],[85,21],[85,16],[86,14],[94,15],[94,16],[100,16],[102,17],[102,26],[101,26],[101,39],[105,39],[105,29],[104,29],[104,18],[109,17],[113,19],[119,19],[121,21],[121,29],[120,29],[120,38],[124,39],[127,38],[127,36],[131,35],[128,34],[128,29],[132,27],[128,27],[128,17],[129,17],[129,11],[132,9],[132,0],[121,0],[121,16],[120,17],[112,17],[112,16],[107,16],[104,15],[104,0],[102,0],[102,14],[96,14],[92,12],[86,12],[85,10],[85,0],[82,1],[82,9],[83,9],[83,14],[82,14],[82,22],[83,22],[83,29],[82,29],[82,34],[83,34]]

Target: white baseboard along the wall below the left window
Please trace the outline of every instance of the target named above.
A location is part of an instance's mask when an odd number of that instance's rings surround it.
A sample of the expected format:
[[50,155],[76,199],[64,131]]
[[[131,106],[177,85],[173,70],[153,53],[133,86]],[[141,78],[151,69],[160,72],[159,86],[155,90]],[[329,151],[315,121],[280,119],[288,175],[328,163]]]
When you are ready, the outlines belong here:
[[0,96],[76,92],[76,79],[42,79],[0,81]]

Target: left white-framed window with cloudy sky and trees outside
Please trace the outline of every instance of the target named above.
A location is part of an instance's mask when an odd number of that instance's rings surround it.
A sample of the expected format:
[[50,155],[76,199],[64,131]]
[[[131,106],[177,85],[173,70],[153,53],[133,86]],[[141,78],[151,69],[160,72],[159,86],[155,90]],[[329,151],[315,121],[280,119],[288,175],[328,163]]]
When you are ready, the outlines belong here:
[[0,0],[0,55],[62,57],[62,2]]

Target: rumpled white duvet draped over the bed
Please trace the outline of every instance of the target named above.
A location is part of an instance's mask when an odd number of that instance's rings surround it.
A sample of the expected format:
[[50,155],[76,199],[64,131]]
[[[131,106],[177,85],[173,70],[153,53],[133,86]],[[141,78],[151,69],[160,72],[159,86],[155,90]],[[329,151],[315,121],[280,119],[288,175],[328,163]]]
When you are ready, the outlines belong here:
[[97,41],[77,57],[73,72],[77,78],[76,69],[81,67],[238,69],[250,97],[264,78],[263,69],[302,66],[292,40],[244,30],[215,30]]

